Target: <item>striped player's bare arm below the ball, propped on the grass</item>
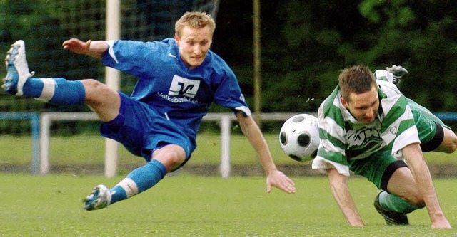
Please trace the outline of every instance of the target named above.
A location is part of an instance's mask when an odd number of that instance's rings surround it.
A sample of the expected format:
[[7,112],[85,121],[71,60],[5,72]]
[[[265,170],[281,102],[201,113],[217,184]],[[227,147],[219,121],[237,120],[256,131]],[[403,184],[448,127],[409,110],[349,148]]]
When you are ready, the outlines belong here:
[[348,189],[348,177],[339,174],[336,169],[328,169],[327,172],[333,198],[340,207],[341,212],[343,212],[343,216],[349,226],[363,227],[362,218],[358,214],[356,204]]

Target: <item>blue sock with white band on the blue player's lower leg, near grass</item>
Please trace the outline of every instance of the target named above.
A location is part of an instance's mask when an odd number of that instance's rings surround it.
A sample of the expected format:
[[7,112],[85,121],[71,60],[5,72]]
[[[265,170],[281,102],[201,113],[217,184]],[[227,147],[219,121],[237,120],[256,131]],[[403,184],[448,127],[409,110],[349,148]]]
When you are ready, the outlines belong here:
[[142,167],[134,169],[119,184],[110,189],[111,203],[128,199],[131,196],[150,189],[163,179],[166,175],[164,164],[153,159]]

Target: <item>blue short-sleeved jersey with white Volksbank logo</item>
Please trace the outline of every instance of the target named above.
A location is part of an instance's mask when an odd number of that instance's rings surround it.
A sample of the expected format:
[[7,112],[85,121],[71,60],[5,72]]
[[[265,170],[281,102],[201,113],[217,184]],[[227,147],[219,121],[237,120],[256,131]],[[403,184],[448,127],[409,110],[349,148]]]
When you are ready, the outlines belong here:
[[176,41],[171,38],[160,42],[108,43],[109,50],[102,63],[138,78],[131,98],[155,107],[181,129],[189,127],[196,132],[211,102],[229,107],[233,112],[251,113],[235,74],[212,51],[199,67],[189,69],[179,56]]

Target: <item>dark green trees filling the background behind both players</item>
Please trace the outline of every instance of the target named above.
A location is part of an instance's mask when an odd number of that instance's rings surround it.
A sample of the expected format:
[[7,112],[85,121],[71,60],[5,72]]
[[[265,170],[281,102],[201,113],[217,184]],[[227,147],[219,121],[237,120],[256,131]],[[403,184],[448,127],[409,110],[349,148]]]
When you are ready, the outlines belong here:
[[[104,14],[100,11],[82,11],[84,16],[74,14],[81,9],[104,9],[104,4],[105,1],[0,1],[0,56],[11,43],[24,39],[30,69],[36,71],[36,76],[103,80],[104,68],[98,60],[64,51],[61,43],[73,37],[84,41],[104,39]],[[155,34],[164,32],[156,28],[156,21],[169,22],[178,17],[171,14],[171,6],[161,5],[169,4],[166,1],[122,1],[122,4],[123,38],[159,39]],[[149,17],[144,12],[154,9],[156,14],[161,8],[170,12],[170,16]],[[146,33],[138,36],[132,33],[131,27],[139,24],[128,20],[132,14],[141,15],[154,29],[142,28]],[[70,23],[75,17],[81,17],[77,31]],[[220,1],[212,47],[232,66],[251,107],[252,21],[251,1]],[[408,98],[433,112],[455,112],[456,21],[453,1],[262,1],[262,112],[316,112],[336,86],[339,71],[356,63],[368,65],[371,70],[403,65],[410,75],[399,88]],[[166,35],[171,36],[172,33]],[[0,67],[0,74],[5,73],[4,67]],[[136,80],[126,75],[122,78],[121,90],[129,94]],[[0,93],[0,111],[89,109],[54,107]],[[229,110],[213,106],[211,112]],[[2,122],[0,130],[19,131],[24,127],[14,126],[16,123],[6,126]]]

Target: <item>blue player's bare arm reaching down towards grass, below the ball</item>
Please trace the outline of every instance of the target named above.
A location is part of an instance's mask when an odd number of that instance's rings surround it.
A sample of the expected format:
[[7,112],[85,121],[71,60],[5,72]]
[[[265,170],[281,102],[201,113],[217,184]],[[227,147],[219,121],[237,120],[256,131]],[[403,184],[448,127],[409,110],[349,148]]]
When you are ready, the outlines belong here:
[[238,112],[236,114],[236,118],[240,123],[243,134],[246,135],[260,157],[263,170],[266,174],[266,191],[269,193],[271,191],[271,186],[276,186],[276,188],[281,189],[286,193],[295,193],[295,183],[292,179],[276,169],[276,165],[271,158],[268,144],[266,143],[265,137],[263,137],[263,134],[256,122],[251,116],[243,116],[242,112]]

